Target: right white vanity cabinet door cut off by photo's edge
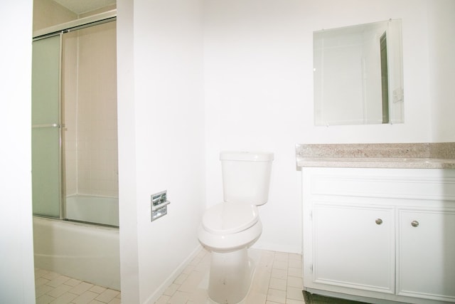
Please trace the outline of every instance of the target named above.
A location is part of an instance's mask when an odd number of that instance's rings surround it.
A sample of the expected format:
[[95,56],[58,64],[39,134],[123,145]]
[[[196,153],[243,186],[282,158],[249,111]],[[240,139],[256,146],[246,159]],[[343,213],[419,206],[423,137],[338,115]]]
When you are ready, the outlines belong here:
[[455,211],[400,210],[397,293],[455,302]]

